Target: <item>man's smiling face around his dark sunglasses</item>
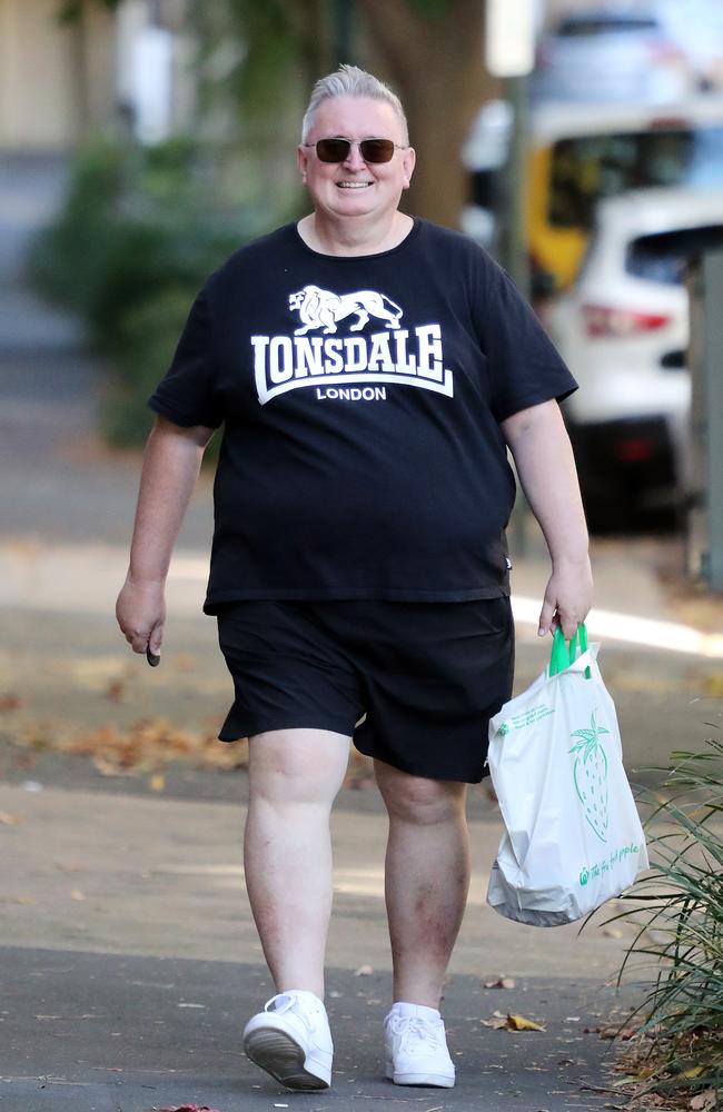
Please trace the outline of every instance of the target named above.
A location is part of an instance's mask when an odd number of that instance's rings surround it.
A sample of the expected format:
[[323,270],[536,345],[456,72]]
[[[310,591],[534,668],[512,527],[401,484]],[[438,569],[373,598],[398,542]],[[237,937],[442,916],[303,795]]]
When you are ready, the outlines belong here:
[[[317,139],[393,139],[405,145],[402,121],[392,105],[367,97],[334,97],[317,108],[307,142]],[[344,162],[321,162],[314,147],[298,148],[298,165],[317,216],[388,219],[409,188],[415,155],[395,150],[389,162],[365,162],[356,143]]]

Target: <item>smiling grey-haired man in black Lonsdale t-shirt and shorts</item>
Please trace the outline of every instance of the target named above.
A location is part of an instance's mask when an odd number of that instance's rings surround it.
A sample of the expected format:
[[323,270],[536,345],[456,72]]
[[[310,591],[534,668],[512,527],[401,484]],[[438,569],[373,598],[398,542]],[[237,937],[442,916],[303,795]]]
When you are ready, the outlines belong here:
[[466,783],[509,696],[506,446],[552,557],[539,632],[587,613],[587,536],[557,400],[575,383],[494,262],[398,209],[415,165],[398,99],[345,66],[317,82],[298,166],[313,211],[204,287],[151,398],[118,620],[160,651],[164,584],[204,448],[225,424],[205,609],[249,738],[244,860],[277,995],[247,1054],[330,1083],[329,812],[349,739],[389,814],[396,1084],[454,1084],[438,1004],[469,883]]

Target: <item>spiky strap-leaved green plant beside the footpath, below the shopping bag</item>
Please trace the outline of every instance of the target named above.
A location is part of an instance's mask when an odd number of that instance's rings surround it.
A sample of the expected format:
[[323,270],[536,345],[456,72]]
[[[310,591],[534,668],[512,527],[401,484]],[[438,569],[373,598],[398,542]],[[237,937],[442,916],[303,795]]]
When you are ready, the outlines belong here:
[[671,755],[645,823],[651,871],[614,916],[640,927],[618,985],[633,967],[646,974],[637,1094],[723,1085],[723,744],[705,745]]

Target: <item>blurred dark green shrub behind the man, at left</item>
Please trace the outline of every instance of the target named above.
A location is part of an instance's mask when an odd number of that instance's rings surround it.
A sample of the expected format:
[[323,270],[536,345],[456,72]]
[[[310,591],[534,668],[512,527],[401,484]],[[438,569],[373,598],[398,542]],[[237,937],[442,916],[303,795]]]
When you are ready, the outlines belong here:
[[148,396],[172,357],[198,289],[279,214],[220,195],[189,139],[151,148],[97,137],[72,167],[65,205],[29,257],[36,288],[79,316],[112,380],[106,435],[142,443]]

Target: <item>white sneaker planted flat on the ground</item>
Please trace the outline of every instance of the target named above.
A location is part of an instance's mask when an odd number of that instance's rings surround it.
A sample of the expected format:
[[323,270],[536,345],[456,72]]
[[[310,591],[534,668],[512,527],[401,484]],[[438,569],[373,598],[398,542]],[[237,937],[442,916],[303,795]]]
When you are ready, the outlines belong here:
[[393,1005],[384,1021],[384,1042],[386,1075],[395,1085],[454,1086],[444,1022],[434,1009]]

